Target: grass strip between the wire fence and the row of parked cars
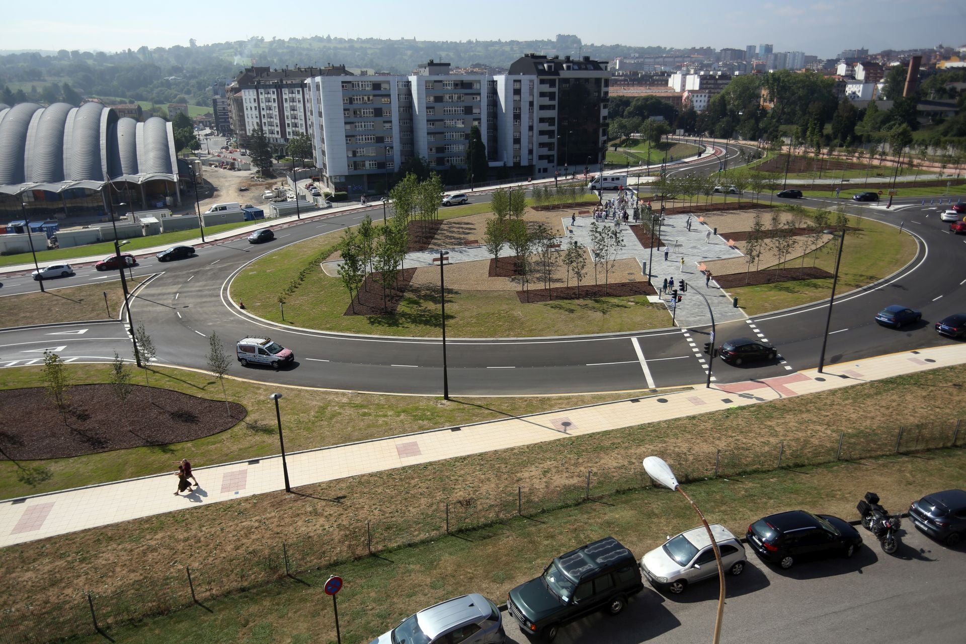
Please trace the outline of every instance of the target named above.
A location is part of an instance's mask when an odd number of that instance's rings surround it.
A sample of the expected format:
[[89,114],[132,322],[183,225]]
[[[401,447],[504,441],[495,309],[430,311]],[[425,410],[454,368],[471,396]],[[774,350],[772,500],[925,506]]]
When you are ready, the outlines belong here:
[[[909,499],[926,490],[964,484],[966,452],[951,449],[922,457],[837,462],[731,480],[712,479],[694,483],[688,491],[709,521],[721,522],[735,534],[742,534],[756,518],[787,508],[854,518],[855,500],[864,490],[876,490],[886,507],[901,509]],[[539,574],[554,556],[605,535],[616,537],[639,557],[660,546],[666,535],[695,525],[692,508],[677,494],[652,488],[611,494],[605,502],[561,508],[543,513],[539,519],[506,518],[482,529],[387,549],[379,556],[324,565],[321,570],[312,565],[315,553],[290,547],[290,561],[297,571],[295,578],[285,577],[276,561],[274,574],[256,573],[256,578],[269,583],[239,594],[213,597],[202,583],[195,581],[198,600],[207,610],[190,605],[185,581],[173,578],[162,588],[185,609],[112,628],[109,633],[114,640],[130,644],[332,643],[334,620],[323,586],[329,574],[338,574],[345,581],[338,596],[342,641],[365,642],[416,610],[469,591],[504,602],[507,591]],[[265,544],[260,549],[269,548],[279,550],[280,546]],[[80,558],[78,555],[71,553],[70,560]],[[185,561],[172,557],[170,563],[175,568]],[[765,566],[754,556],[751,564],[754,568]],[[238,572],[254,572],[246,568]],[[202,580],[214,572],[204,562],[192,571],[195,579]],[[24,594],[22,589],[20,594]],[[387,597],[391,601],[387,602]],[[106,615],[120,612],[119,599],[95,600],[101,624]],[[80,601],[79,597],[75,600]],[[634,601],[631,608],[640,609]],[[83,613],[77,609],[74,614],[78,626],[84,625],[81,628],[89,631],[90,627],[82,621]],[[510,615],[503,613],[503,619],[504,628],[517,629]],[[91,634],[72,641],[98,644],[103,639]]]

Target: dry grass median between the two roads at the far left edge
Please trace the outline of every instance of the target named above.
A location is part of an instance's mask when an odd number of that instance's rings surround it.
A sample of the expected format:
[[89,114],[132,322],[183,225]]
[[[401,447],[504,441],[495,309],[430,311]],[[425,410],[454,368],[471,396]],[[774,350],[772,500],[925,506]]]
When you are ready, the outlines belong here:
[[[113,271],[116,276],[117,271]],[[133,290],[143,277],[128,278],[128,289]],[[121,278],[99,280],[97,284],[85,284],[57,288],[56,280],[43,283],[46,293],[8,295],[0,299],[4,308],[3,325],[26,326],[50,322],[78,322],[81,320],[116,319],[124,305]],[[104,294],[107,303],[104,304]],[[0,377],[0,380],[3,378]]]

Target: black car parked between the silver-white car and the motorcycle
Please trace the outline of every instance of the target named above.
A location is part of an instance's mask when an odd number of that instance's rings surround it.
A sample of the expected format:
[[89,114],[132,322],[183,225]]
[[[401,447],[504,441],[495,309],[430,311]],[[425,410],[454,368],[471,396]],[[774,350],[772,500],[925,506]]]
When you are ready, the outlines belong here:
[[859,532],[832,515],[792,510],[759,518],[748,526],[748,545],[759,557],[781,568],[814,557],[851,557],[862,546]]

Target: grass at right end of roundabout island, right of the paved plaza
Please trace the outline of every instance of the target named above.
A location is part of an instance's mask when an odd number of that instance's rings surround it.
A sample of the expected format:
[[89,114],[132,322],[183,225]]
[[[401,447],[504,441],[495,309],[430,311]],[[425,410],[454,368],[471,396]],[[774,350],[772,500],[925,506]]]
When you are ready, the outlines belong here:
[[[849,225],[862,230],[848,233],[845,239],[841,265],[838,268],[838,294],[858,289],[892,274],[905,266],[916,254],[915,238],[907,233],[899,233],[893,226],[871,219],[860,220],[856,216],[849,216]],[[805,264],[811,266],[814,259],[815,266],[832,272],[836,266],[837,251],[838,245],[833,240],[807,254]],[[801,264],[802,260],[796,258],[782,265],[767,267],[795,267]],[[762,266],[764,267],[766,266]],[[738,297],[745,313],[758,315],[814,302],[828,297],[831,291],[832,278],[828,278],[745,286],[729,289],[728,294]]]

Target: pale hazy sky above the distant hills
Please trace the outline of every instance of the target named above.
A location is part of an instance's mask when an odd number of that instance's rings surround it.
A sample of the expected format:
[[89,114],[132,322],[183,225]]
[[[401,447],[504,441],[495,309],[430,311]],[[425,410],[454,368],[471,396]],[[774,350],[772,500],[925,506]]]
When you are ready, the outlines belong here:
[[149,47],[331,35],[418,40],[529,40],[574,34],[594,44],[744,48],[831,58],[845,48],[928,47],[966,42],[962,0],[521,0],[449,5],[405,0],[266,3],[210,0],[158,3],[48,0],[5,4],[0,49],[116,51]]

